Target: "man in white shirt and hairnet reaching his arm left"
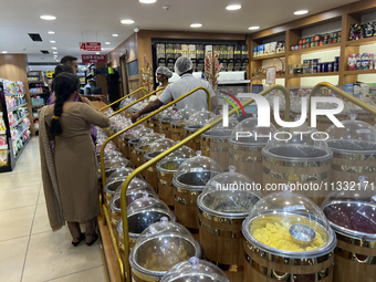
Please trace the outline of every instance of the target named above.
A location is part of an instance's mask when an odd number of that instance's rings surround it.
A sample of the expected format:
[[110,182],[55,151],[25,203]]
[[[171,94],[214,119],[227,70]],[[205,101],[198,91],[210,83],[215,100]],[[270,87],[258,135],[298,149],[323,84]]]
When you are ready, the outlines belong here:
[[[181,79],[168,85],[164,93],[157,100],[153,101],[149,105],[147,105],[139,112],[133,114],[130,116],[133,123],[135,123],[138,117],[156,111],[163,105],[168,104],[173,100],[177,100],[178,97],[197,88],[198,86],[203,86],[209,91],[211,109],[215,109],[218,106],[216,93],[213,92],[210,84],[207,81],[194,77],[194,65],[189,58],[180,56],[175,63],[175,72],[180,75]],[[177,102],[176,106],[180,109],[184,108],[186,104],[189,108],[194,108],[196,111],[201,111],[202,108],[208,109],[208,95],[205,91],[199,90],[188,97]]]

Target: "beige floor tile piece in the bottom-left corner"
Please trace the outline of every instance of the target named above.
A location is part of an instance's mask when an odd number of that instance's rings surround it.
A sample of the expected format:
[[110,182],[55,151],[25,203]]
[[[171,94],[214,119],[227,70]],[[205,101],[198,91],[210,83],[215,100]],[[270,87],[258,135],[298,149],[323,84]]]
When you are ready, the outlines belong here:
[[0,281],[20,282],[29,237],[0,242]]

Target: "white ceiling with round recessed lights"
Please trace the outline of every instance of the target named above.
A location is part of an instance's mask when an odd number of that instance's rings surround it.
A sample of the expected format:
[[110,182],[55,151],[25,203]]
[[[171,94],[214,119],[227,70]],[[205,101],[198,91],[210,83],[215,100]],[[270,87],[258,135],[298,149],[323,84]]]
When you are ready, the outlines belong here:
[[[249,33],[251,25],[267,29],[304,15],[294,15],[306,9],[309,14],[356,2],[356,0],[157,0],[143,4],[138,0],[0,0],[0,52],[25,53],[29,62],[53,62],[53,51],[59,60],[66,54],[81,56],[79,42],[102,42],[106,54],[127,39],[134,27],[154,30],[212,31]],[[227,11],[226,6],[240,3],[241,10]],[[169,6],[170,10],[161,8]],[[52,14],[55,21],[40,19]],[[121,20],[133,19],[134,24]],[[192,29],[191,23],[202,23]],[[48,31],[55,34],[48,34]],[[40,33],[43,42],[33,42],[28,33]],[[118,33],[113,38],[112,33]],[[56,43],[50,43],[55,40]],[[108,41],[111,45],[104,43]],[[56,46],[58,50],[52,50]],[[49,50],[43,55],[40,50]],[[86,52],[88,53],[88,52]],[[93,52],[92,52],[93,53]]]

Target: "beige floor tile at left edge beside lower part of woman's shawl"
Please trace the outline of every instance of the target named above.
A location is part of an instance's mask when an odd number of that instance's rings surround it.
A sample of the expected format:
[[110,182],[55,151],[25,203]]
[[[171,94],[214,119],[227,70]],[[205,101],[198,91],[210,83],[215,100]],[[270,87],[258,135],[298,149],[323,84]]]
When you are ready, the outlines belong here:
[[40,185],[0,190],[0,211],[36,205]]

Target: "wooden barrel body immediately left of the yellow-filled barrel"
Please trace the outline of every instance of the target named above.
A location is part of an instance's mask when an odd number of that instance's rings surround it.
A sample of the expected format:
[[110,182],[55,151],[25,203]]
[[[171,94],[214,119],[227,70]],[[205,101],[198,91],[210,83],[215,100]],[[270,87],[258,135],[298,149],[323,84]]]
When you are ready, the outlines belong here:
[[244,219],[220,218],[201,209],[198,219],[202,257],[223,270],[231,282],[243,282]]

